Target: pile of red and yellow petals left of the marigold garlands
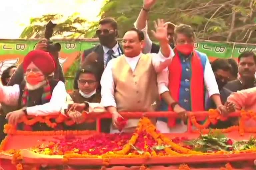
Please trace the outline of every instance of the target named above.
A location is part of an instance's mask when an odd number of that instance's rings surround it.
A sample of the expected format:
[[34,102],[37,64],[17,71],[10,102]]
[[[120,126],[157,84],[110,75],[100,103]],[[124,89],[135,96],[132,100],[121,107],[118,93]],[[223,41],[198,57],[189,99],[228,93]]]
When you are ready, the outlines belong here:
[[92,155],[101,155],[109,151],[117,151],[123,148],[129,139],[131,133],[115,134],[97,134],[87,139],[75,136],[65,136],[64,138],[55,137],[55,141],[49,144],[42,144],[32,148],[36,153],[48,155],[62,155],[65,153],[89,153]]

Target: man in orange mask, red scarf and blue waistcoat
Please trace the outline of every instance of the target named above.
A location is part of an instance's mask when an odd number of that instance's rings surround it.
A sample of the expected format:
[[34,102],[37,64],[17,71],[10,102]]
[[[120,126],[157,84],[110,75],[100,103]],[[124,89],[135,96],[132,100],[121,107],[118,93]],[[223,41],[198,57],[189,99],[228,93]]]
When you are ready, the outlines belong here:
[[[204,111],[205,90],[220,112],[225,112],[214,73],[206,54],[194,49],[195,34],[191,26],[181,24],[174,30],[175,56],[159,75],[161,111],[174,111],[179,120],[160,118],[157,128],[163,133],[185,132],[186,111]],[[170,73],[170,74],[169,74]],[[182,121],[182,119],[184,121]],[[202,121],[202,120],[201,120]],[[176,126],[175,126],[176,125]],[[174,127],[175,126],[175,127]]]

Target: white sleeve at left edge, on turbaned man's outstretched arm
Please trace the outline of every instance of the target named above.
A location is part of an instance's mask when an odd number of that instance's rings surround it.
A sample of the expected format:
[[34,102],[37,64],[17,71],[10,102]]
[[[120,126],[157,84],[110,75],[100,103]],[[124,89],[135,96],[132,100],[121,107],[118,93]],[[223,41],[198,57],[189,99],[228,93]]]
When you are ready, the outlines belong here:
[[20,96],[20,87],[18,84],[13,86],[3,86],[0,83],[0,102],[6,105],[16,106]]

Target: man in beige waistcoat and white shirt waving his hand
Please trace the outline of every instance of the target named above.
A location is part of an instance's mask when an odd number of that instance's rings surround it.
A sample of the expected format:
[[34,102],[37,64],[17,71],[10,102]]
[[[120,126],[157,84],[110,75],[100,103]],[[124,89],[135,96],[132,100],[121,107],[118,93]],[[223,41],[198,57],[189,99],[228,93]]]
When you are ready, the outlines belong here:
[[[148,112],[158,107],[157,73],[171,63],[174,52],[164,21],[158,20],[155,28],[152,32],[161,46],[158,54],[142,54],[144,34],[134,28],[123,37],[124,55],[112,59],[103,72],[101,104],[112,114],[111,132],[118,131],[118,112]],[[124,131],[133,131],[137,124],[137,119],[128,120]]]

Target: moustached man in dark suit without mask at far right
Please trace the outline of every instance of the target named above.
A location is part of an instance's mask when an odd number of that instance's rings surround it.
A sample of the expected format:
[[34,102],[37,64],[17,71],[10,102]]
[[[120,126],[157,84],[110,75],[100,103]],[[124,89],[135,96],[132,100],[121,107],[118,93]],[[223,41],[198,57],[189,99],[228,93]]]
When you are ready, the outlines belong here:
[[225,86],[232,92],[256,87],[255,81],[256,55],[250,51],[244,51],[238,56],[238,73],[240,78],[228,82]]

